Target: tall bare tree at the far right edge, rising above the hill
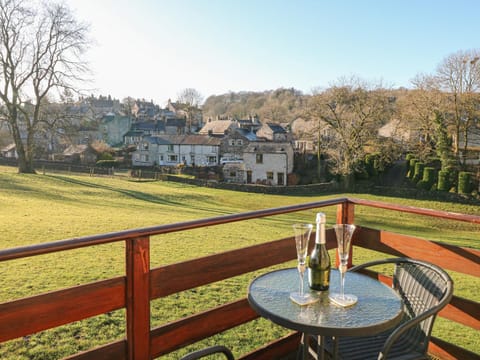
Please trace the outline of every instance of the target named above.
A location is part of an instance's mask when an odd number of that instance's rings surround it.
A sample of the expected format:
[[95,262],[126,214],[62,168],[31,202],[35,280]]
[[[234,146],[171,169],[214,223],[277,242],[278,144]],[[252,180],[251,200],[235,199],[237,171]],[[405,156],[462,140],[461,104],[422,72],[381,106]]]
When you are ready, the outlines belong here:
[[[468,131],[479,117],[480,50],[459,51],[447,56],[437,68],[439,86],[450,96],[454,130],[454,152],[462,150],[463,160],[468,148]],[[463,149],[460,149],[463,139]]]

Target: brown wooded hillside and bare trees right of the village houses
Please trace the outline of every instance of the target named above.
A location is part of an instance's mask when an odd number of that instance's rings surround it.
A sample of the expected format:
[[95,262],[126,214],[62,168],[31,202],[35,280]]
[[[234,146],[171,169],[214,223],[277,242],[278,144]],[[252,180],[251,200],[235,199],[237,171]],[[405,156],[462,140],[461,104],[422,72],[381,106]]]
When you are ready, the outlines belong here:
[[[375,155],[378,169],[407,153],[421,163],[438,159],[439,170],[470,170],[478,181],[479,56],[479,50],[453,53],[434,73],[417,75],[411,89],[389,89],[352,76],[312,94],[276,89],[210,96],[203,111],[209,117],[255,114],[290,126],[297,138],[316,143],[316,180],[327,168],[347,188],[367,173],[368,155]],[[476,167],[469,166],[475,161]]]

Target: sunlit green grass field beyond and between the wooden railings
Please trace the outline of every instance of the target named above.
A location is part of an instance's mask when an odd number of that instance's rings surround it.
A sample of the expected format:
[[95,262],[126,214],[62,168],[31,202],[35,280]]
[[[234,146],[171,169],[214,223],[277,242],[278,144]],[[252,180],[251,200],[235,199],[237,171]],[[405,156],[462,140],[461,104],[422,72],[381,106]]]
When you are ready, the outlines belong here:
[[[340,196],[344,196],[342,194]],[[176,183],[137,182],[60,174],[20,175],[0,167],[0,248],[50,242],[84,235],[168,224],[250,210],[322,200],[330,196],[246,194]],[[478,206],[355,194],[453,212],[480,214]],[[335,207],[322,209],[331,224]],[[315,211],[219,225],[151,241],[152,267],[291,236],[291,224],[313,222]],[[447,243],[480,248],[478,225],[357,208],[356,222]],[[333,256],[333,255],[332,255]],[[378,254],[359,249],[354,262]],[[101,245],[0,263],[0,302],[124,274],[124,246]],[[228,279],[152,303],[152,325],[187,316],[243,297],[253,274]],[[457,295],[480,301],[480,282],[452,274]],[[1,359],[58,359],[124,336],[124,312],[116,311],[24,339],[0,344]],[[228,331],[201,345],[225,343],[238,355],[281,336],[286,330],[265,320]],[[438,321],[434,334],[480,353],[473,330]],[[472,335],[473,334],[473,335]],[[180,353],[164,357],[176,359]]]

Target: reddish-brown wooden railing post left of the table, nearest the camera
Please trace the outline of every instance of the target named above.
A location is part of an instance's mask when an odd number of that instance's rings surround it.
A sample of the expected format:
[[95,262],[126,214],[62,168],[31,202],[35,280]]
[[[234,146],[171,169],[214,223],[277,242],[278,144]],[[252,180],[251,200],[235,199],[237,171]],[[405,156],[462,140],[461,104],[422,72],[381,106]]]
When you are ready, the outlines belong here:
[[127,359],[150,359],[150,238],[126,244]]

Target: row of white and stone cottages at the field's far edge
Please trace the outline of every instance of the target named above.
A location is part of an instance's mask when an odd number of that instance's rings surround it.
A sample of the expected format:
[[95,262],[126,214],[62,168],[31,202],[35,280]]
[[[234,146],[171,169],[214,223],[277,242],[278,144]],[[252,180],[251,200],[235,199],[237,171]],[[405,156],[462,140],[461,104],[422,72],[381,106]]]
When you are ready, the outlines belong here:
[[293,153],[289,136],[280,125],[258,124],[254,132],[238,121],[215,120],[198,134],[143,137],[133,153],[132,165],[221,165],[225,181],[287,185]]

